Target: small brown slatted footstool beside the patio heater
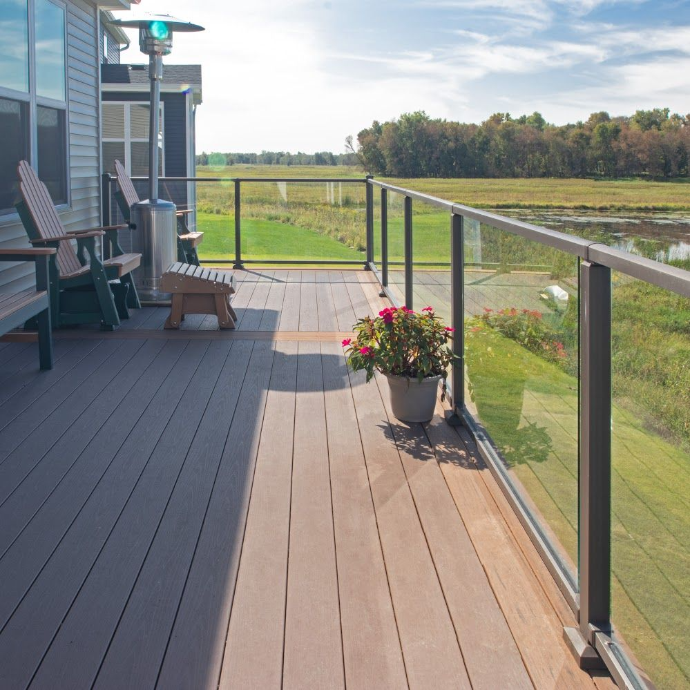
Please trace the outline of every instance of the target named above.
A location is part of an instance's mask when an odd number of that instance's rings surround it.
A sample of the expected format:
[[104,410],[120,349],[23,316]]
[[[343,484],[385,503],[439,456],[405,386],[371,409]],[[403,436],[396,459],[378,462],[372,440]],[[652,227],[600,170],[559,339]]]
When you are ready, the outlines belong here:
[[185,314],[215,314],[220,328],[234,328],[230,304],[235,278],[228,271],[175,262],[162,276],[162,291],[173,295],[166,328],[179,328]]

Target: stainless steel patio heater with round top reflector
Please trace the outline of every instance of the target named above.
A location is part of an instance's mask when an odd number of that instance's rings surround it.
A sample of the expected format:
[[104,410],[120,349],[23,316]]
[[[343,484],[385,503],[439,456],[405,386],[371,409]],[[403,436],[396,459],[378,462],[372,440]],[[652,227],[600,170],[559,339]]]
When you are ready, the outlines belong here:
[[135,284],[142,300],[166,303],[170,296],[161,291],[160,280],[177,260],[177,219],[175,204],[158,198],[158,137],[160,136],[160,82],[163,56],[170,55],[173,33],[203,31],[202,26],[175,19],[170,15],[146,15],[143,19],[114,19],[115,26],[139,29],[139,48],[148,55],[151,98],[148,119],[148,199],[131,209],[135,231],[132,244],[142,255],[135,271]]

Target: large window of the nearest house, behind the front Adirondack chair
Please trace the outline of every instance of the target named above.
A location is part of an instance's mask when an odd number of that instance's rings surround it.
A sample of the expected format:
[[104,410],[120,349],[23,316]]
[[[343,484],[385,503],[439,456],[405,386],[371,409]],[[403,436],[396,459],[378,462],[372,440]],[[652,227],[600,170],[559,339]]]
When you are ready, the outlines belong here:
[[56,205],[66,204],[66,7],[12,0],[3,4],[0,28],[0,213],[14,211],[19,198],[20,160],[37,169]]

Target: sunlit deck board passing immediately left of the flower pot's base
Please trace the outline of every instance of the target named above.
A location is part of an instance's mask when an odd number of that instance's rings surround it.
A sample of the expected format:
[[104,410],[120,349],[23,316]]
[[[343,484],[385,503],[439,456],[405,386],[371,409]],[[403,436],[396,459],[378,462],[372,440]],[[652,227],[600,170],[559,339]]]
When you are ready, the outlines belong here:
[[378,395],[350,374],[410,688],[470,688],[400,456]]

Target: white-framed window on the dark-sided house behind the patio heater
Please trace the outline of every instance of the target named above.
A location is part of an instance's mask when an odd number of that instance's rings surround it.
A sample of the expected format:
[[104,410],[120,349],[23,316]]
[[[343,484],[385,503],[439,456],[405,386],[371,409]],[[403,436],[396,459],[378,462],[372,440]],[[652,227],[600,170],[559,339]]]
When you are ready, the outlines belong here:
[[[132,177],[148,175],[148,103],[107,102],[103,113],[103,171],[115,172],[115,160]],[[158,168],[164,171],[163,104],[160,104]]]

